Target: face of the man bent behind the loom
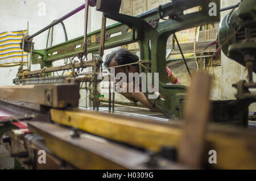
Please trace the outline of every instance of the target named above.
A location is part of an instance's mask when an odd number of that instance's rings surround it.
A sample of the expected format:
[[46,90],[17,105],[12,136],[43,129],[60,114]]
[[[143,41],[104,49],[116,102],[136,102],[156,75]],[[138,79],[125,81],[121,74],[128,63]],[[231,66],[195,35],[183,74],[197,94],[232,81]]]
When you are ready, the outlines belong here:
[[[119,64],[114,60],[114,58],[110,61],[110,64],[109,64],[109,68],[112,68],[114,66],[119,66]],[[115,68],[115,76],[118,74],[118,73],[125,73],[126,76],[127,76],[127,82],[128,82],[128,77],[129,77],[129,73],[136,73],[138,72],[139,69],[138,69],[138,65],[127,65],[127,66],[121,66],[121,67],[118,67],[118,68]],[[110,69],[109,69],[109,72],[110,72]],[[119,80],[116,80],[117,82]]]

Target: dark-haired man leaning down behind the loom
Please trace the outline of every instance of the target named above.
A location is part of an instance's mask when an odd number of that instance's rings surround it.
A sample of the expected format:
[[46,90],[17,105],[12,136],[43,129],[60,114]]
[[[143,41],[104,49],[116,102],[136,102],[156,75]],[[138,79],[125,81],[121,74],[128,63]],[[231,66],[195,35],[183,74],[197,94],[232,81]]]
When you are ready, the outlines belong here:
[[[134,62],[138,62],[139,57],[133,53],[131,53],[127,49],[119,49],[115,50],[112,53],[108,54],[106,56],[106,60],[104,62],[104,66],[106,68],[113,68],[116,66],[119,66],[115,68],[115,75],[118,73],[125,73],[127,77],[129,77],[129,73],[139,73],[139,66],[138,64],[133,65],[126,65],[126,64],[132,64]],[[125,66],[120,66],[125,65]],[[179,79],[175,76],[174,73],[166,66],[166,71],[168,78],[171,83],[180,85]],[[116,82],[117,83],[117,82]],[[122,82],[122,90],[128,90],[130,85],[130,82],[127,80],[127,82]],[[133,85],[134,86],[134,85]],[[133,101],[133,102],[141,102],[143,106],[149,108],[151,111],[156,111],[155,108],[151,105],[151,103],[148,101],[146,96],[144,95],[141,90],[139,92],[120,92],[123,96],[125,96],[127,99]]]

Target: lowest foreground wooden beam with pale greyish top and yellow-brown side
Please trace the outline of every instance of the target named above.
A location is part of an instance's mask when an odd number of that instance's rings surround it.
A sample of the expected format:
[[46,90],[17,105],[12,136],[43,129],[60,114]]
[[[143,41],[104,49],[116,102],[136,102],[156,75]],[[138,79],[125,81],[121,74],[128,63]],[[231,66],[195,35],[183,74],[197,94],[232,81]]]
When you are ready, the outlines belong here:
[[54,124],[30,122],[28,129],[42,136],[57,157],[78,169],[187,169],[163,158],[158,158],[157,167],[148,167],[150,155],[143,151],[87,133],[73,138],[70,129]]

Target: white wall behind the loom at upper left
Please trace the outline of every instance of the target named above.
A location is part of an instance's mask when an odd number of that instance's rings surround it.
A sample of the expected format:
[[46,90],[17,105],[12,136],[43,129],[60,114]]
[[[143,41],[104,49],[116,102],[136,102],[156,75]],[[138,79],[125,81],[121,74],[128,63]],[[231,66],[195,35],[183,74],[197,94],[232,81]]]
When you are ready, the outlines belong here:
[[[46,5],[46,15],[40,16],[40,3]],[[0,1],[0,32],[26,30],[29,22],[29,33],[35,33],[47,26],[53,20],[60,18],[69,11],[76,9],[84,3],[84,0],[1,0]],[[64,20],[68,39],[81,36],[84,33],[84,10]],[[61,24],[54,27],[53,45],[65,41]],[[46,48],[48,31],[34,37],[35,49]],[[60,64],[60,62],[57,62]],[[56,64],[55,64],[56,65]],[[0,68],[0,85],[13,85],[13,79],[19,66],[12,68]],[[33,70],[39,69],[39,65],[32,65]]]

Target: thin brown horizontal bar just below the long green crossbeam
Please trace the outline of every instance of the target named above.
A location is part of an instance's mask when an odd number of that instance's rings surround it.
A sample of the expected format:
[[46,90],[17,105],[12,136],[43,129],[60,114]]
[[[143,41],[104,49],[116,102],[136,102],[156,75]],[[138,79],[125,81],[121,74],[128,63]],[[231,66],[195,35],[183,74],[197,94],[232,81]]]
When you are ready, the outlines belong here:
[[[86,68],[88,66],[96,66],[98,64],[99,60],[90,60],[90,61],[82,61],[82,62],[77,62],[73,64],[73,68]],[[52,68],[45,68],[43,71],[44,73],[51,73],[53,71],[60,71],[60,70],[71,70],[72,69],[72,64],[68,65],[63,65],[63,66],[55,66]],[[16,77],[22,77],[27,76],[27,75],[36,75],[42,73],[42,69],[40,70],[33,70],[33,71],[27,71],[26,73],[19,73],[16,74]]]

